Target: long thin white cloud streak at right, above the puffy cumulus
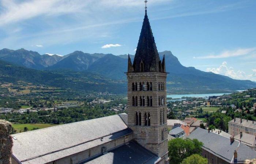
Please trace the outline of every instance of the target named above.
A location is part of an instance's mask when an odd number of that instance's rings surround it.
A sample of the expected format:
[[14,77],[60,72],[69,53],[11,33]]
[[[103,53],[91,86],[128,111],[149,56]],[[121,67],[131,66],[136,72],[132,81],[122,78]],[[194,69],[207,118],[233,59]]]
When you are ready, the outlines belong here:
[[255,47],[253,48],[239,48],[234,51],[223,51],[221,54],[217,55],[207,55],[207,56],[198,56],[198,57],[193,57],[197,59],[216,59],[216,58],[230,58],[230,57],[235,57],[235,56],[242,56],[242,55],[248,55],[251,54],[256,50]]

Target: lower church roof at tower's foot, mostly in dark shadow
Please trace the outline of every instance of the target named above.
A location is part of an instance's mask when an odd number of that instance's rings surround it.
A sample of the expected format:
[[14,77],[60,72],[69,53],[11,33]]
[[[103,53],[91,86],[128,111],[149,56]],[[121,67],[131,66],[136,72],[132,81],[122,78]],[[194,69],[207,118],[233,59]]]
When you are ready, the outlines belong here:
[[135,141],[130,141],[86,164],[154,164],[158,159]]

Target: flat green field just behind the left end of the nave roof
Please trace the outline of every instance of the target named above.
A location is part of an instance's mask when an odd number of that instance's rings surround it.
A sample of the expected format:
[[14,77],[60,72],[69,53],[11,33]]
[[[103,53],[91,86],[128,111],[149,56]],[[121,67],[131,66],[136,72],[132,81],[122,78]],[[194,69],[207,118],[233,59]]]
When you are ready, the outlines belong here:
[[29,130],[33,130],[33,128],[42,129],[51,126],[56,126],[56,124],[12,124],[12,127],[14,127],[14,129],[17,130],[16,133],[23,132],[25,127],[27,127]]

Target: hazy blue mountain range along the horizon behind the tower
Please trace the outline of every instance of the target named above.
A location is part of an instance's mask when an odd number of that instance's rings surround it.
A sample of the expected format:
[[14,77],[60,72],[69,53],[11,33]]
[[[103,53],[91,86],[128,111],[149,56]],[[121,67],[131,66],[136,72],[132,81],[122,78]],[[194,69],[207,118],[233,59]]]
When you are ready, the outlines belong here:
[[[217,93],[256,87],[249,80],[236,80],[227,76],[204,72],[194,67],[182,66],[171,51],[159,52],[165,55],[167,87],[169,93]],[[134,55],[130,55],[133,60]],[[48,70],[53,73],[73,71],[102,76],[113,81],[125,81],[128,55],[89,54],[75,51],[65,56],[40,55],[25,49],[0,50],[0,60],[36,70]],[[125,88],[125,87],[124,87]],[[124,91],[125,92],[125,91]]]

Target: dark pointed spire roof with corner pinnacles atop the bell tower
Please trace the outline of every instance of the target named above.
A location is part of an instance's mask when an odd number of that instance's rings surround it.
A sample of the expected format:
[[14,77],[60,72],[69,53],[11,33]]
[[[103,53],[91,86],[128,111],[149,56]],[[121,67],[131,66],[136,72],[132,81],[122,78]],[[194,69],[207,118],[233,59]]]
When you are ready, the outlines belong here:
[[134,69],[134,72],[141,72],[141,64],[143,63],[143,72],[157,71],[163,72],[165,63],[161,62],[157,46],[155,45],[155,39],[150,27],[150,23],[145,12],[142,30],[140,32],[140,38],[133,60],[133,68],[131,68],[131,61],[128,60],[128,72]]

